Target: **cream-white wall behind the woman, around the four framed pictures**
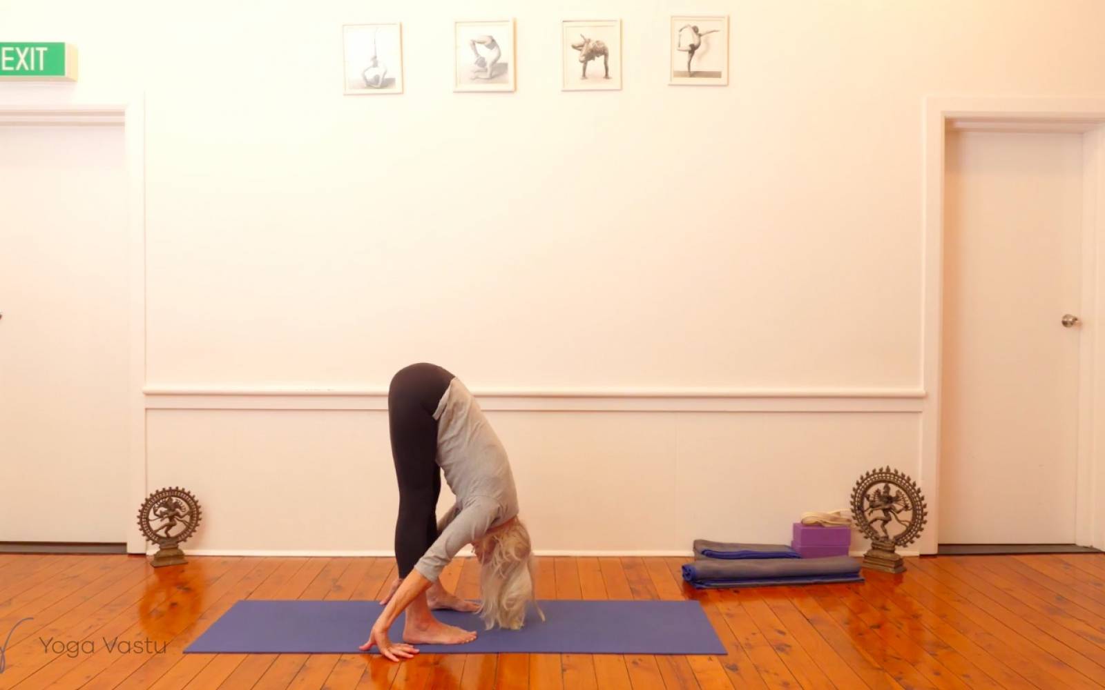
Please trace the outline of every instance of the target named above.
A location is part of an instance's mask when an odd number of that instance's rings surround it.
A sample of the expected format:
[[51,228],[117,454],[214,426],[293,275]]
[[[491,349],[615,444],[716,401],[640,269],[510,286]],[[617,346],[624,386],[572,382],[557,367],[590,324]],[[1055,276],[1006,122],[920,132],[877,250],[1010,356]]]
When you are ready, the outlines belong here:
[[[666,85],[684,10],[730,15],[729,86]],[[518,91],[454,94],[451,21],[509,15]],[[587,17],[623,20],[621,92],[559,91],[559,21]],[[343,96],[341,23],[386,20],[407,93]],[[0,6],[6,36],[78,45],[51,97],[145,92],[147,382],[245,393],[150,404],[262,407],[151,411],[148,484],[200,495],[191,548],[274,550],[389,548],[379,393],[419,360],[523,407],[493,421],[548,549],[783,540],[860,470],[916,473],[923,97],[1103,95],[1103,20],[1093,0]],[[578,406],[601,411],[555,411]]]

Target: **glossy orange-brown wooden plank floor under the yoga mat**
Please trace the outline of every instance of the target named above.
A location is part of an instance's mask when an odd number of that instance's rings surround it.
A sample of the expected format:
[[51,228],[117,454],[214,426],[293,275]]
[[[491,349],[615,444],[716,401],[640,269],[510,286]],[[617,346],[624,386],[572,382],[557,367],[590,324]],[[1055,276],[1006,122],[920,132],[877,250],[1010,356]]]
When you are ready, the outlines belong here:
[[[33,618],[8,639],[0,688],[1105,687],[1105,554],[911,559],[905,575],[869,573],[862,585],[708,593],[683,586],[682,562],[544,559],[538,595],[695,598],[725,656],[422,655],[397,665],[181,654],[240,598],[375,598],[393,577],[387,559],[193,558],[155,571],[140,556],[0,555],[0,641]],[[442,577],[475,597],[475,566],[454,562]],[[64,649],[81,640],[84,649]]]

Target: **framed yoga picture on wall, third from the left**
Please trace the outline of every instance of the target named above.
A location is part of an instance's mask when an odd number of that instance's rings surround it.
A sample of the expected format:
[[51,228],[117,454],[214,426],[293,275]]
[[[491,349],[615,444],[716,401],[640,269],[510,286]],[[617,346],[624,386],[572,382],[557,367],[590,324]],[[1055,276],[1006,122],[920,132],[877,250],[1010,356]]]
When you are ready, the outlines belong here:
[[562,91],[621,88],[621,20],[565,21],[560,30]]

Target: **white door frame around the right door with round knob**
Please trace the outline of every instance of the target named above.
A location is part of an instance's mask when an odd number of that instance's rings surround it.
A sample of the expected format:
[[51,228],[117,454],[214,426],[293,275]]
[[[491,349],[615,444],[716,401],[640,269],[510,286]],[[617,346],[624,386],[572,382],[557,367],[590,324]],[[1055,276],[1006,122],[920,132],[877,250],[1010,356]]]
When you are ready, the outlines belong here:
[[[928,97],[924,113],[924,269],[920,485],[933,506],[920,552],[936,553],[939,534],[940,381],[944,328],[944,184],[947,131],[1083,135],[1082,343],[1080,347],[1075,541],[1105,548],[1105,99]],[[1057,316],[1056,316],[1057,318]]]

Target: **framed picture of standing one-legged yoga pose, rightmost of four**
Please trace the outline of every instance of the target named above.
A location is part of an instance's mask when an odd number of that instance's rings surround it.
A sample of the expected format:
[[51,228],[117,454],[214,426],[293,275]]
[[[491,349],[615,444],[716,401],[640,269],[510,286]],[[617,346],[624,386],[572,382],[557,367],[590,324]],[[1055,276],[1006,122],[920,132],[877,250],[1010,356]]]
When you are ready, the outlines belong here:
[[729,83],[728,17],[672,17],[671,40],[669,84]]

